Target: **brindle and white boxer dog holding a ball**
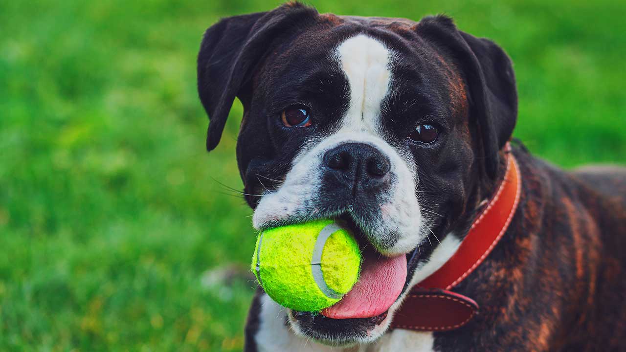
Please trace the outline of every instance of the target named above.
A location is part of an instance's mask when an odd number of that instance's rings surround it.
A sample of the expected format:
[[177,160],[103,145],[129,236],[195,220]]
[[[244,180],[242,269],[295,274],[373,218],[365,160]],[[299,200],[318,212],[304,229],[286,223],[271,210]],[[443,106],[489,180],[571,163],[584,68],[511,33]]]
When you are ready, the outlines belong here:
[[[209,151],[235,97],[244,107],[237,162],[256,229],[336,219],[369,253],[364,266],[402,282],[392,294],[381,277],[366,308],[341,318],[282,308],[259,288],[245,351],[626,350],[626,169],[564,171],[511,142],[515,75],[492,41],[446,16],[287,3],[207,29],[198,94]],[[452,289],[478,314],[446,331],[392,329],[409,291],[472,246],[513,158],[510,218]]]

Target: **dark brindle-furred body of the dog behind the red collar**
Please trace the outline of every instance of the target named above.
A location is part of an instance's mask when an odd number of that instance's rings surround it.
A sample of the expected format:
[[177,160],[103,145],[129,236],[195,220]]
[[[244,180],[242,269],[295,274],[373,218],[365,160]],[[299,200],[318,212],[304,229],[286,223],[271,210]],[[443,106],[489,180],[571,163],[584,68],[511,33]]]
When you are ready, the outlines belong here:
[[565,172],[514,148],[521,199],[490,256],[454,291],[481,311],[440,351],[626,349],[626,171]]

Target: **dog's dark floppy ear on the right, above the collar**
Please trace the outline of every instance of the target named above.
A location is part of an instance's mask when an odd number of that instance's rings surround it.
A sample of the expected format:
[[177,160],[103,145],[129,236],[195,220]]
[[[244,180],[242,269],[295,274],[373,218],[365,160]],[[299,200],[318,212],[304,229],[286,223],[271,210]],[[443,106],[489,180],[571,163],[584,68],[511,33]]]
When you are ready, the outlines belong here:
[[445,16],[424,18],[418,31],[434,38],[453,55],[469,90],[470,119],[478,123],[485,172],[498,171],[498,151],[511,139],[517,121],[517,89],[513,65],[493,41],[459,31]]

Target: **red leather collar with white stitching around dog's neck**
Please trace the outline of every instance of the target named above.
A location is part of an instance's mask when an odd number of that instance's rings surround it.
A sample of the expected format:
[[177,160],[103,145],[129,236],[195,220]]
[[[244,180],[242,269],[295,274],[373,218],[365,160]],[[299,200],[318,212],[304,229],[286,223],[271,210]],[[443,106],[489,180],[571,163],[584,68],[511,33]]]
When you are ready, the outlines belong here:
[[485,260],[513,219],[520,200],[521,175],[509,146],[507,150],[505,177],[495,195],[453,256],[409,291],[394,315],[392,329],[449,331],[469,323],[478,314],[473,299],[450,290]]

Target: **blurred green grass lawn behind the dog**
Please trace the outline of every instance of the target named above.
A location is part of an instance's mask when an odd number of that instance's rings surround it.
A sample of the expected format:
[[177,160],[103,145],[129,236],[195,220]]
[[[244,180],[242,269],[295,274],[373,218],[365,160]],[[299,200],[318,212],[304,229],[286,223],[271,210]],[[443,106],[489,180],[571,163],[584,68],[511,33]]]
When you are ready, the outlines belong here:
[[[225,272],[255,234],[219,184],[242,187],[241,108],[206,153],[195,56],[218,18],[279,3],[0,1],[0,350],[242,348],[254,282]],[[453,16],[513,58],[533,153],[626,162],[624,1],[310,3]]]

